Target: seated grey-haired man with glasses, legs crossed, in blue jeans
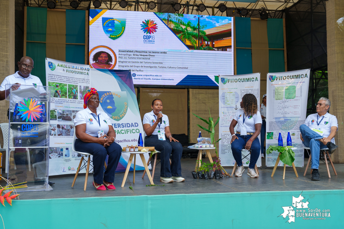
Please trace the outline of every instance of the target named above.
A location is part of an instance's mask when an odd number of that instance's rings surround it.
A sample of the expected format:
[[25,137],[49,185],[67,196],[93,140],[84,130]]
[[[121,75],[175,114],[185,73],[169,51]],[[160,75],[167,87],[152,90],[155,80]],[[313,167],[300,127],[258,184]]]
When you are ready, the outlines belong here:
[[315,105],[318,113],[309,115],[304,124],[300,126],[300,139],[305,147],[311,149],[312,181],[320,181],[318,170],[320,149],[327,147],[332,154],[338,148],[333,143],[338,130],[338,122],[336,116],[327,113],[331,106],[329,99],[321,97]]

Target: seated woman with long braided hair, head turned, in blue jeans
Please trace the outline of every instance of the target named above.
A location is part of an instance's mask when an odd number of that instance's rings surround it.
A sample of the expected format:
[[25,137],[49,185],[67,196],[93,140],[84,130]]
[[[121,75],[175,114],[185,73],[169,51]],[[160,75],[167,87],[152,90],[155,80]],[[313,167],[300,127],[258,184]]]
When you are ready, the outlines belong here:
[[[241,159],[241,149],[245,147],[245,149],[251,149],[247,175],[251,178],[257,178],[258,176],[254,168],[260,156],[260,143],[257,137],[260,134],[262,119],[258,111],[256,96],[245,94],[240,102],[240,108],[242,109],[236,112],[229,126],[229,131],[232,135],[232,140],[230,140],[232,153],[238,165],[235,176],[241,176],[245,171]],[[236,134],[234,134],[234,127],[237,124]]]

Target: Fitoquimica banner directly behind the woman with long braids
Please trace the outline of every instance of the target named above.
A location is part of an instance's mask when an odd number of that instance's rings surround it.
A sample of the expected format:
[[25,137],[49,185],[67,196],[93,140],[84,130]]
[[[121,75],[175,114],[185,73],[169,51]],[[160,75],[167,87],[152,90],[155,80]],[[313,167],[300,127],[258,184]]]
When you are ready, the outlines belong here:
[[[234,76],[219,76],[219,157],[223,166],[234,166],[235,160],[232,149],[230,148],[230,140],[232,135],[229,132],[229,125],[238,109],[243,96],[247,93],[254,94],[257,98],[257,107],[259,111],[260,102],[260,73]],[[236,132],[237,126],[234,131]],[[258,136],[260,142],[260,135]],[[249,165],[249,151],[243,150],[244,166]],[[260,154],[260,153],[259,153]],[[257,166],[261,166],[261,157],[258,158]]]

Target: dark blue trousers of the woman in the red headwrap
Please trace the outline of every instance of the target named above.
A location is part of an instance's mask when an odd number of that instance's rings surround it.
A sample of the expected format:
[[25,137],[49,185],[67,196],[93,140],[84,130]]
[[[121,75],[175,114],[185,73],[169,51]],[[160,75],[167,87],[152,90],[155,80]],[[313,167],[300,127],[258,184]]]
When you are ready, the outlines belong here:
[[[122,147],[120,145],[113,142],[110,146],[104,147],[98,143],[83,142],[80,139],[76,139],[74,147],[76,151],[87,152],[93,155],[93,179],[96,183],[103,184],[103,180],[114,183],[116,168],[122,154]],[[107,154],[109,159],[104,172],[104,162]]]

